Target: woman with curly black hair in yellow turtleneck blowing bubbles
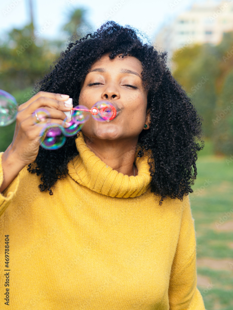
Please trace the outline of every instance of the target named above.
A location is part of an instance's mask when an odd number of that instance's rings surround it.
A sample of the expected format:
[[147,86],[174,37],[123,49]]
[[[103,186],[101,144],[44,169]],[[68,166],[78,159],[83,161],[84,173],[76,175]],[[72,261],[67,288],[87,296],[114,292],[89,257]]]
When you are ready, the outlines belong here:
[[[188,197],[201,122],[165,60],[107,22],[70,43],[20,106],[0,157],[8,309],[205,309]],[[34,111],[62,124],[69,96],[88,108],[109,100],[117,116],[39,147]]]

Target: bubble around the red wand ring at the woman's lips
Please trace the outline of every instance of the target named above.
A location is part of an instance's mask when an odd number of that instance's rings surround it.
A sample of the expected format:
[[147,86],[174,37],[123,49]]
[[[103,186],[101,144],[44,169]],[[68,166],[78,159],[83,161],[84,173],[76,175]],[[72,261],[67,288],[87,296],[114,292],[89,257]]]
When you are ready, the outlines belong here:
[[92,117],[99,122],[105,122],[110,120],[114,114],[111,103],[107,100],[98,101],[96,104],[93,105],[91,111]]

